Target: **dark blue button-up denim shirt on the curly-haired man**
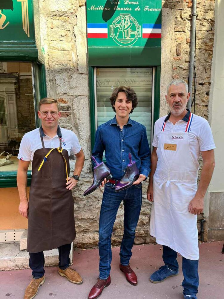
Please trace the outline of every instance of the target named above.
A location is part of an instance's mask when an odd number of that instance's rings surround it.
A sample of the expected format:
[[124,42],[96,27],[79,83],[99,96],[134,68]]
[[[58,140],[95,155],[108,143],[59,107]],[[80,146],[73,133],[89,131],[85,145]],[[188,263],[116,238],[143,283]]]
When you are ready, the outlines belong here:
[[100,125],[96,130],[96,141],[92,152],[97,162],[102,162],[104,151],[106,165],[114,179],[120,180],[125,174],[129,164],[129,152],[132,161],[136,161],[139,174],[148,177],[151,165],[150,148],[146,128],[142,124],[129,118],[128,123],[121,129],[115,115],[113,119]]

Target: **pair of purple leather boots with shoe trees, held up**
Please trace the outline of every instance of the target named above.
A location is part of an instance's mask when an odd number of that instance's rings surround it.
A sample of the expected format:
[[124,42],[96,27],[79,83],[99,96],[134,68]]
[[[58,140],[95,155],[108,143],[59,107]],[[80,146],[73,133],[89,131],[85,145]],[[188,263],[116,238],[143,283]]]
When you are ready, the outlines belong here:
[[[128,154],[129,164],[125,171],[125,175],[116,184],[115,191],[122,191],[132,186],[133,182],[139,177],[139,170],[136,166],[135,161],[131,159],[131,153]],[[103,163],[98,163],[96,159],[92,156],[93,161],[96,166],[93,168],[93,184],[84,192],[84,196],[95,191],[102,181],[106,178],[107,181],[112,178],[109,168]]]

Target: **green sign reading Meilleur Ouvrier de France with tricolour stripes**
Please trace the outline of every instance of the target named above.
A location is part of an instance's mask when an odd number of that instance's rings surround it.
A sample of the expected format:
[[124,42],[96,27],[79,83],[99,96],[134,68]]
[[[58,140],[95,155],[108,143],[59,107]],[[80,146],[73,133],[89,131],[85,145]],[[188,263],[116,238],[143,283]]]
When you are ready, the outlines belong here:
[[160,65],[161,0],[87,0],[89,65]]

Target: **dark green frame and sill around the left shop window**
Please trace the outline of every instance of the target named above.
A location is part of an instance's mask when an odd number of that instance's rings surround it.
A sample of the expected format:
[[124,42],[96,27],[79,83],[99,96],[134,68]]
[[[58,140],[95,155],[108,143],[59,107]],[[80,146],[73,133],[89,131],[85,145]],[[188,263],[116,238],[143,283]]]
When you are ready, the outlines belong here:
[[[7,61],[11,62],[11,61]],[[13,61],[19,62],[19,61]],[[22,61],[23,62],[23,61]],[[34,100],[34,109],[35,109],[35,119],[36,119],[36,127],[38,127],[38,115],[37,115],[37,89],[39,89],[40,98],[47,96],[47,86],[46,86],[46,74],[45,74],[45,65],[39,62],[31,62],[32,64],[32,81],[33,81],[33,100]],[[35,76],[35,68],[38,72],[38,82]],[[38,86],[39,85],[39,86]],[[17,171],[1,171],[0,168],[0,188],[8,188],[8,187],[17,187],[16,183]],[[29,187],[31,183],[31,170],[27,171],[27,186]]]

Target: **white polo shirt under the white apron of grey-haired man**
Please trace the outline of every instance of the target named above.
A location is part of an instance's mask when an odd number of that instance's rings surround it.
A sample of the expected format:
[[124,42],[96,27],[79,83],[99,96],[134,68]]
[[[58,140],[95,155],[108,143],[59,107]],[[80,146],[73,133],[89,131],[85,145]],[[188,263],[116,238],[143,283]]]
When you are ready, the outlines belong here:
[[[190,111],[185,115],[182,120],[179,120],[175,125],[169,121],[170,113],[162,116],[155,122],[154,138],[152,145],[158,147],[159,135],[162,132],[163,122],[166,125],[164,131],[166,132],[185,132],[188,123]],[[194,161],[197,163],[200,152],[214,149],[215,144],[208,121],[201,116],[193,114],[190,131],[188,132],[190,151]],[[184,157],[183,157],[184,158]]]

